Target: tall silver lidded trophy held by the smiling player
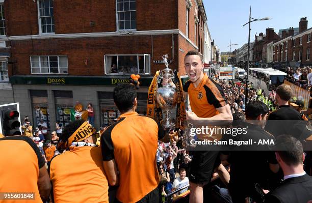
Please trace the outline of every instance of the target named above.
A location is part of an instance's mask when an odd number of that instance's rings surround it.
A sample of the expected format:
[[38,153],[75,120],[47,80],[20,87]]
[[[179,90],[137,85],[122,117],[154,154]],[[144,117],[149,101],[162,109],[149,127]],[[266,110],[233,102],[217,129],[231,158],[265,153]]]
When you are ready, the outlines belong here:
[[165,117],[163,122],[164,128],[172,128],[175,126],[171,122],[170,110],[173,109],[177,103],[177,91],[175,87],[170,84],[170,79],[174,78],[173,70],[168,68],[168,55],[163,55],[164,64],[166,68],[159,72],[159,79],[163,80],[163,86],[157,89],[156,101],[163,111],[165,111]]

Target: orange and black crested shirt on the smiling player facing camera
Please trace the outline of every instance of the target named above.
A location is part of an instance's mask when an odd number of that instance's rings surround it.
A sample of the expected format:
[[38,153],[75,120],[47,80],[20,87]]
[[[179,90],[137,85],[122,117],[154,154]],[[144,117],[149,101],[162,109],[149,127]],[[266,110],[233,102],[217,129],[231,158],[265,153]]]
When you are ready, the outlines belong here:
[[227,104],[220,84],[206,74],[195,88],[190,80],[183,85],[183,91],[190,98],[192,111],[199,118],[211,118],[219,114],[216,108]]

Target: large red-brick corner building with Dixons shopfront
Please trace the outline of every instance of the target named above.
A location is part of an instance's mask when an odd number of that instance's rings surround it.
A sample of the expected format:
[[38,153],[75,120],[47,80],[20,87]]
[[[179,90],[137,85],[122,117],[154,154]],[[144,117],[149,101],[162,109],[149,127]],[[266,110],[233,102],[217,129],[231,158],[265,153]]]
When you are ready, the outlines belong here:
[[[140,74],[138,111],[157,70],[185,75],[188,50],[204,49],[202,0],[0,0],[0,104],[19,102],[29,115],[54,125],[68,110],[92,103],[95,127],[117,118],[112,91]],[[9,79],[10,78],[10,79]],[[54,130],[54,126],[51,130]]]

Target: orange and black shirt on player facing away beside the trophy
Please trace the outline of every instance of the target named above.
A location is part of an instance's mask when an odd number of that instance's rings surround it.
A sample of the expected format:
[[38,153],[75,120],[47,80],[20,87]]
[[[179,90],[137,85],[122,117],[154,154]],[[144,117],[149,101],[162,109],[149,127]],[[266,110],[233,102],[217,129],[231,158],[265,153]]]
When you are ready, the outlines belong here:
[[153,119],[127,112],[101,136],[103,161],[115,159],[119,170],[117,199],[137,202],[159,185],[156,166],[163,128]]

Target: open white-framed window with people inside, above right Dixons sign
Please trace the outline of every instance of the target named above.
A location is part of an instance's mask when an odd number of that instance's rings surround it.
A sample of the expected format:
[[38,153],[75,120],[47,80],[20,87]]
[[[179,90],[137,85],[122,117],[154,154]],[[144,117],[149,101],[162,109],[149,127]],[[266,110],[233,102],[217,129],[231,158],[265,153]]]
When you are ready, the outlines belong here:
[[106,74],[149,74],[150,55],[105,55]]

